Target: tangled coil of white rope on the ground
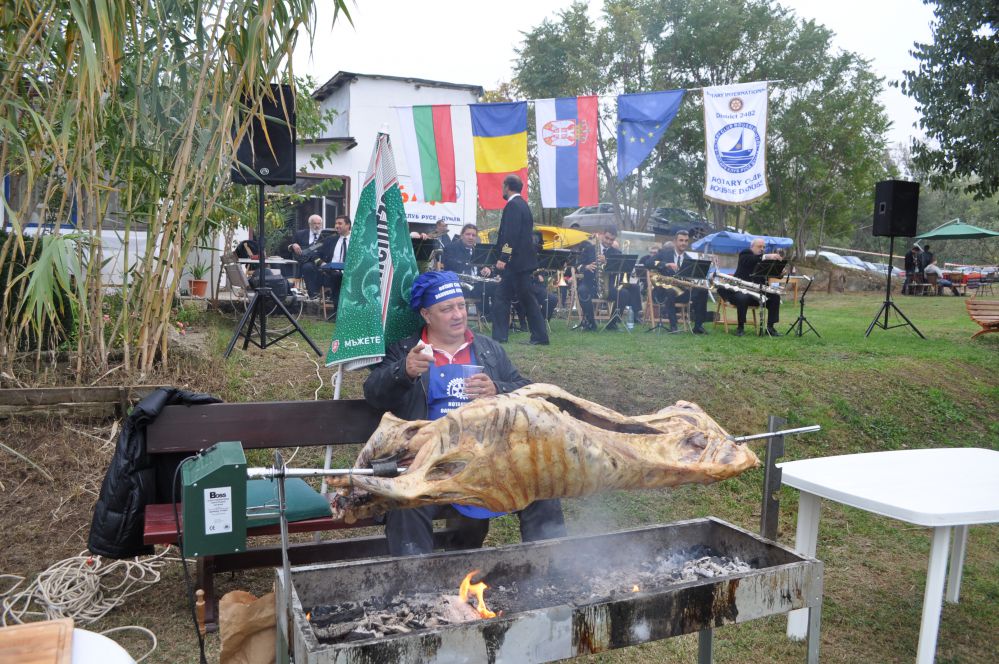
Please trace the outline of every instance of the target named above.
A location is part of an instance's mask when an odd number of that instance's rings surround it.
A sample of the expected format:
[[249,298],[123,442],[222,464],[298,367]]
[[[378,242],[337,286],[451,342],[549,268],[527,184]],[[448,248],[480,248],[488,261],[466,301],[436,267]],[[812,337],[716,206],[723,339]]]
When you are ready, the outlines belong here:
[[[104,559],[83,551],[50,565],[23,589],[25,577],[0,574],[0,580],[13,581],[0,593],[0,624],[6,627],[32,619],[59,618],[72,618],[82,625],[94,623],[127,598],[158,582],[166,563],[178,560],[169,557],[171,550],[167,547],[155,556],[130,560]],[[152,650],[136,660],[141,662],[156,649],[156,635],[138,625],[114,627],[102,634],[126,629],[141,631],[153,642]]]

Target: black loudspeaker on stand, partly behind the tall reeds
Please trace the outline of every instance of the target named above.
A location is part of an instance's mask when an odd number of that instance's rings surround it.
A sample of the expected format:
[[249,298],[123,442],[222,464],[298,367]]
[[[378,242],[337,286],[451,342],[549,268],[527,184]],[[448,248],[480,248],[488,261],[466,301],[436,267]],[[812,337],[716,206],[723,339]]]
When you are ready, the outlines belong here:
[[295,184],[295,95],[290,85],[272,84],[271,93],[273,99],[262,102],[263,124],[254,116],[236,150],[231,172],[236,184]]

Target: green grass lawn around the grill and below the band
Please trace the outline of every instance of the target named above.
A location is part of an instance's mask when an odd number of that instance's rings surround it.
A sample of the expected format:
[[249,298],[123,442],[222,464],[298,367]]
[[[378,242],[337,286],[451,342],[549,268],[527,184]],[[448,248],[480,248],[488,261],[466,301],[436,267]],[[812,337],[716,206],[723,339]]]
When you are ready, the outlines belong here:
[[[921,447],[999,449],[999,335],[971,340],[978,328],[962,298],[900,297],[897,304],[927,338],[908,329],[876,329],[865,338],[881,300],[879,295],[811,298],[807,314],[822,338],[737,338],[720,327],[707,337],[658,336],[644,328],[632,334],[580,333],[555,321],[550,346],[521,345],[517,342],[527,335],[514,334],[506,348],[534,381],[554,383],[627,414],[652,412],[683,399],[700,404],[733,434],[763,431],[768,415],[784,417],[790,425],[822,425],[820,433],[789,439],[788,459]],[[796,314],[796,308],[792,313],[785,305],[781,331]],[[320,346],[328,347],[332,325],[303,322]],[[209,318],[207,324],[210,347],[221,356],[231,321]],[[330,372],[317,370],[313,360],[294,337],[266,351],[237,350],[228,362],[219,361],[223,383],[204,389],[233,401],[310,399],[316,390],[319,398],[330,398]],[[344,398],[360,397],[366,373],[347,375]],[[318,462],[318,456],[303,452],[296,465],[313,460]],[[346,453],[341,461],[349,460]],[[755,530],[762,477],[756,470],[711,486],[569,500],[569,528],[572,533],[601,532],[714,515]],[[793,545],[797,492],[785,487],[780,498],[778,539]],[[496,520],[488,542],[514,541],[516,521]],[[823,662],[915,658],[929,542],[925,528],[823,505],[817,552],[825,563]],[[246,577],[267,583],[264,577],[245,575],[233,586]],[[997,607],[999,527],[974,527],[961,602],[944,606],[937,661],[999,661]],[[716,661],[804,661],[804,644],[787,641],[784,628],[783,618],[719,628]],[[696,638],[591,660],[692,662]]]

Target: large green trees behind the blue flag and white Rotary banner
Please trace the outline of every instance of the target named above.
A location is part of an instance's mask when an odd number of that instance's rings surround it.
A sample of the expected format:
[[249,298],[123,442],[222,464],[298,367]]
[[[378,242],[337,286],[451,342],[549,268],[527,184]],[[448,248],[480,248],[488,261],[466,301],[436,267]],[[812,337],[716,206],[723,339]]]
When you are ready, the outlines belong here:
[[719,225],[793,235],[803,247],[849,228],[861,209],[866,215],[888,164],[882,80],[831,40],[828,29],[764,0],[606,0],[598,21],[577,2],[525,35],[515,84],[539,98],[775,81],[768,199],[739,208],[704,200],[703,106],[694,90],[623,185],[614,168],[616,109],[610,99],[602,104],[603,186],[639,210],[639,230],[654,207],[689,207]]

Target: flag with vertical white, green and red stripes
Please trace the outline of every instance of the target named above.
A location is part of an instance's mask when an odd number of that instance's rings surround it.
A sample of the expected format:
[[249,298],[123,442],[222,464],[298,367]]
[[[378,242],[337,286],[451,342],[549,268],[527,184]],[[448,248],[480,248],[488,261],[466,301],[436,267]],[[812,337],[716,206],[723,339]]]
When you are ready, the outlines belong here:
[[412,106],[397,111],[402,128],[402,149],[409,164],[416,200],[457,202],[451,107]]

